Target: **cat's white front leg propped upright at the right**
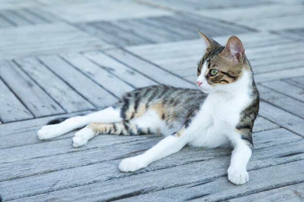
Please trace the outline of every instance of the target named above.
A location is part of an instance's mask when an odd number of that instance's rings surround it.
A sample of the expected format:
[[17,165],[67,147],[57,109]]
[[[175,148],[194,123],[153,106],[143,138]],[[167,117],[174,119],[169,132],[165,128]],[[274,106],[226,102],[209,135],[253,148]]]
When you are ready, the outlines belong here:
[[249,175],[246,170],[248,161],[252,155],[252,150],[246,141],[239,138],[234,142],[230,166],[228,168],[228,179],[236,184],[242,185],[249,181]]

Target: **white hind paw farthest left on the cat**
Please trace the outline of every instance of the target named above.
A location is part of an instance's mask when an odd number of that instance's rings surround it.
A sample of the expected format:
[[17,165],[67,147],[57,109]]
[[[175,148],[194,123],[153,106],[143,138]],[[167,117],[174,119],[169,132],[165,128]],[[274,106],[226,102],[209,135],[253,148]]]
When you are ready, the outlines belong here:
[[50,140],[65,133],[64,128],[60,124],[45,125],[37,131],[39,140]]

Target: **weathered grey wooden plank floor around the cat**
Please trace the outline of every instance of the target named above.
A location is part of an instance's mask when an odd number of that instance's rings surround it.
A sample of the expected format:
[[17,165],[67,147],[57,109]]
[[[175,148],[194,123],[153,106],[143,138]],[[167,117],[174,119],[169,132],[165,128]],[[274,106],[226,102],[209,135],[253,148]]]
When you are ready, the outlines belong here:
[[[162,137],[49,141],[54,117],[86,114],[138,87],[196,88],[198,30],[244,43],[261,96],[250,181],[231,151],[186,147],[131,173],[121,159]],[[0,0],[0,195],[14,202],[303,202],[303,0]],[[0,200],[0,201],[1,201]]]

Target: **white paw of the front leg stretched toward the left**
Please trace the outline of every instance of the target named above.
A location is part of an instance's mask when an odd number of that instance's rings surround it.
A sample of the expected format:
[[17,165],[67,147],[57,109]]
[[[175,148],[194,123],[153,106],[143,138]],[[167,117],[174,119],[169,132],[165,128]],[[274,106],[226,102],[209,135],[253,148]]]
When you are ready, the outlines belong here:
[[148,163],[139,155],[123,159],[119,164],[119,170],[123,172],[132,172],[141,168],[146,168],[147,166]]

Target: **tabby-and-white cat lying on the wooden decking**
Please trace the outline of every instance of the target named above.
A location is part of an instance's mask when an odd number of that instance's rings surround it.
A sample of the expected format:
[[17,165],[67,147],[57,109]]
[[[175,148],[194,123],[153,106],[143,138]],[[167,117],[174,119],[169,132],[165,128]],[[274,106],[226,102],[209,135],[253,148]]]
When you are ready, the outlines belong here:
[[99,134],[167,136],[145,153],[122,160],[119,169],[124,172],[145,168],[186,144],[232,146],[228,179],[236,185],[246,183],[246,166],[253,151],[253,123],[259,110],[252,68],[236,36],[231,36],[223,47],[199,33],[206,45],[197,69],[199,90],[165,85],[135,89],[111,107],[43,126],[37,132],[38,138],[48,140],[85,125],[73,137],[74,147],[83,146]]

